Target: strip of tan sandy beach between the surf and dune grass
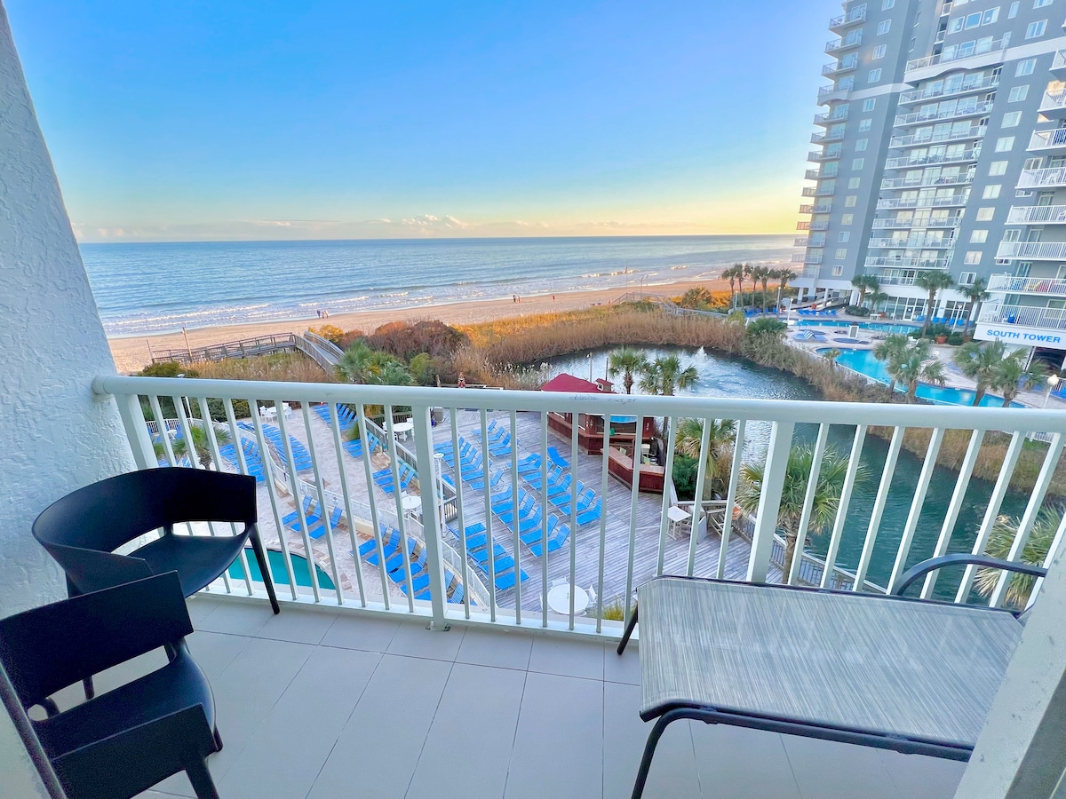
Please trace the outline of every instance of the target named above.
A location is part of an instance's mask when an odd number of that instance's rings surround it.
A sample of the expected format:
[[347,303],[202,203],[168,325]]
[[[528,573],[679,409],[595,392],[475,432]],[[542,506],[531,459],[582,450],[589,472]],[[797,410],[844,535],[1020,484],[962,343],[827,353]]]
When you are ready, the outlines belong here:
[[[657,293],[666,296],[678,296],[697,286],[704,287],[708,291],[729,291],[729,282],[726,280],[698,280],[665,286],[646,286],[644,291],[648,294]],[[774,289],[774,286],[770,287],[771,292]],[[253,339],[257,336],[268,336],[270,333],[303,332],[309,327],[319,327],[327,324],[339,327],[342,330],[362,330],[364,332],[373,332],[381,325],[397,321],[440,320],[450,325],[464,325],[524,314],[550,313],[552,311],[588,308],[594,305],[608,305],[618,299],[624,293],[625,289],[614,288],[521,297],[520,303],[515,303],[510,298],[485,299],[422,308],[338,313],[330,315],[328,320],[312,317],[264,322],[253,325],[204,327],[188,331],[189,346],[195,348],[209,344],[221,344],[226,341]],[[110,339],[109,343],[111,345],[111,354],[115,359],[115,368],[120,373],[128,374],[144,369],[144,366],[151,363],[149,347],[152,352],[180,349],[185,346],[185,339],[179,331],[147,337]]]

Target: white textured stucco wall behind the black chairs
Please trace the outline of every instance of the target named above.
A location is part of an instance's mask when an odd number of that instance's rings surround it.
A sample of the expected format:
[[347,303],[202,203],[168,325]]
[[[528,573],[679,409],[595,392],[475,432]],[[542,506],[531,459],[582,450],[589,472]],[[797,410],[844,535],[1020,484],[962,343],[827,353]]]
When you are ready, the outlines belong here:
[[[129,471],[118,412],[93,397],[114,372],[59,183],[0,5],[0,616],[65,596],[30,535],[75,488]],[[44,795],[0,714],[4,796]]]

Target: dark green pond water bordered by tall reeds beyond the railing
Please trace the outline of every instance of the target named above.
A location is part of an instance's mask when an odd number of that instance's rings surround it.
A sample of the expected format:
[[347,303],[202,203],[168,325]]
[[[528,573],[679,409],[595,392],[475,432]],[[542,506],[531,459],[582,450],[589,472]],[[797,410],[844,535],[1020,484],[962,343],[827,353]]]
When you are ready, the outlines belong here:
[[[681,356],[682,368],[690,365],[696,368],[699,373],[696,384],[688,390],[678,391],[679,395],[758,399],[821,398],[815,389],[800,378],[785,372],[759,366],[743,359],[710,355],[702,348],[646,347],[641,349],[649,359],[677,353]],[[578,355],[551,359],[548,361],[549,375],[555,376],[562,372],[569,372],[587,379],[604,377],[607,376],[608,355],[611,352],[612,349],[596,350],[592,353],[591,358],[587,355]],[[615,376],[613,379],[617,384],[615,390],[624,391],[621,377]],[[633,387],[633,393],[642,393],[639,386]],[[817,425],[796,425],[796,442],[812,442],[817,435]],[[829,429],[830,444],[844,455],[851,452],[854,437],[854,427],[834,425]],[[749,423],[745,439],[747,442],[744,447],[745,458],[762,459],[765,456],[770,439],[770,423]],[[862,463],[870,476],[863,485],[856,487],[852,496],[840,554],[837,559],[837,564],[845,569],[854,569],[858,566],[887,454],[888,441],[867,436],[862,446]],[[922,457],[907,452],[900,453],[889,488],[888,502],[878,526],[868,575],[871,582],[878,585],[885,585],[891,575],[903,528],[910,513],[922,463]],[[914,543],[907,558],[908,566],[933,553],[940,536],[940,527],[943,525],[948,512],[952,492],[955,490],[955,483],[956,474],[954,472],[943,467],[937,467],[934,471],[925,501],[920,509]],[[972,548],[991,489],[990,483],[979,479],[970,480],[952,534],[950,552],[968,552]],[[1027,500],[1028,494],[1012,491],[1003,500],[1001,512],[1008,516],[1020,516],[1024,510]],[[811,549],[817,554],[824,553],[828,547],[828,533],[814,537],[811,540]],[[938,594],[953,596],[953,583],[957,585],[957,577],[951,576],[952,580],[943,578],[937,583]]]

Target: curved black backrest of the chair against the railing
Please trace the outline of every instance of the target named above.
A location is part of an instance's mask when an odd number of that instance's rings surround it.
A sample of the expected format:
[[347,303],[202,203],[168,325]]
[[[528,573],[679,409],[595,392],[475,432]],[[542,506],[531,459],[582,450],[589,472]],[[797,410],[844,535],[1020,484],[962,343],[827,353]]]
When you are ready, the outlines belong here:
[[119,474],[47,507],[33,536],[49,552],[53,545],[113,552],[154,529],[204,521],[254,524],[255,477],[180,467]]

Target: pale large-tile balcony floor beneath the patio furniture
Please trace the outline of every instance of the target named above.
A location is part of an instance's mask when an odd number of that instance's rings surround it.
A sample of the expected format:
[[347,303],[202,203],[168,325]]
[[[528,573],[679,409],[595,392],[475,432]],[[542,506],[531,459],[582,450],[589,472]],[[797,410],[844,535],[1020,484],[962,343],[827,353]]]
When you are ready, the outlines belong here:
[[[196,598],[193,654],[225,741],[226,799],[627,797],[650,725],[612,646]],[[140,668],[154,667],[143,662]],[[132,667],[125,667],[127,671]],[[102,675],[98,684],[129,673]],[[963,764],[695,722],[647,797],[952,797]],[[145,796],[191,797],[183,774]]]

